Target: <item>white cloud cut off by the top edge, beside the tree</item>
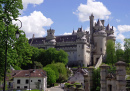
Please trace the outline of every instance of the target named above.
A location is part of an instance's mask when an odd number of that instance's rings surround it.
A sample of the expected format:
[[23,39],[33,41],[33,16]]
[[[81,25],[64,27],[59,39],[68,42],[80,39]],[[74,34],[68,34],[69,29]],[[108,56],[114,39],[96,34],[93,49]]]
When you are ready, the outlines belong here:
[[33,4],[34,6],[43,3],[44,0],[22,0],[24,10],[27,8],[28,4]]

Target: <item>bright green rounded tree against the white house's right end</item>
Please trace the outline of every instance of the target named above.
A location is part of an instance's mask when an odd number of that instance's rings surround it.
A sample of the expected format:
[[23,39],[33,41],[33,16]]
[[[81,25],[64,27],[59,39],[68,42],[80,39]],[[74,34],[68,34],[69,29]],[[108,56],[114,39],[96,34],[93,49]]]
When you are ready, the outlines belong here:
[[47,84],[51,85],[55,83],[56,82],[55,72],[49,67],[44,67],[43,70],[47,72]]

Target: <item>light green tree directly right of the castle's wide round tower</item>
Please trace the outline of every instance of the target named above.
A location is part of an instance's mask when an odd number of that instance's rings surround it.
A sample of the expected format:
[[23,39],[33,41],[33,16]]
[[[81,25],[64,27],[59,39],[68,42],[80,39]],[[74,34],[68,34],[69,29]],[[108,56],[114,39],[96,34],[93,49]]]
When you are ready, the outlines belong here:
[[116,63],[115,43],[113,40],[107,41],[106,55],[107,55],[106,57],[107,64]]

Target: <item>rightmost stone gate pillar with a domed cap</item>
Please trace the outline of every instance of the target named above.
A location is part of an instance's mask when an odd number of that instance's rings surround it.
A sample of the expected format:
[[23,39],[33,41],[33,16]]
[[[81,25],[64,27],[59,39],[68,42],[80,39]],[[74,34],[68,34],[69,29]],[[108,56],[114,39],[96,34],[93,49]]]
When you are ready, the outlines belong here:
[[116,86],[117,86],[117,91],[126,91],[126,63],[119,61],[115,64],[116,66]]

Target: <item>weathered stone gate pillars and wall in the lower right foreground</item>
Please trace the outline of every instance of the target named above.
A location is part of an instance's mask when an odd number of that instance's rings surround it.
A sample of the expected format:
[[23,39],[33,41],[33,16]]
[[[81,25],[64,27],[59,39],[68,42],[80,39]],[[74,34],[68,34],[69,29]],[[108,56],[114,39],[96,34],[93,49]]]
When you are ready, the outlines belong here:
[[[116,73],[109,73],[108,69],[110,68],[106,64],[100,66],[100,91],[126,91],[126,63],[119,61],[115,64]],[[84,74],[84,91],[91,91],[92,85],[92,73],[93,68],[89,67],[91,71],[88,71],[88,74]]]

